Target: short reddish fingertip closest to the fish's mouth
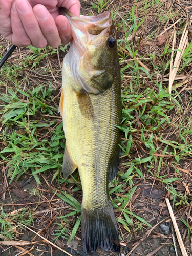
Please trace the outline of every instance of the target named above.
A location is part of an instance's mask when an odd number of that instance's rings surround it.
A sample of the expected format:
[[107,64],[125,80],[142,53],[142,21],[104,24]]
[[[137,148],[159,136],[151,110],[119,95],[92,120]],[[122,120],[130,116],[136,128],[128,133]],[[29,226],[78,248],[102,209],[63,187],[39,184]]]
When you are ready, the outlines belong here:
[[72,40],[72,36],[71,28],[67,18],[65,16],[59,15],[58,17],[56,17],[55,23],[57,25],[62,44],[68,44],[68,42]]

